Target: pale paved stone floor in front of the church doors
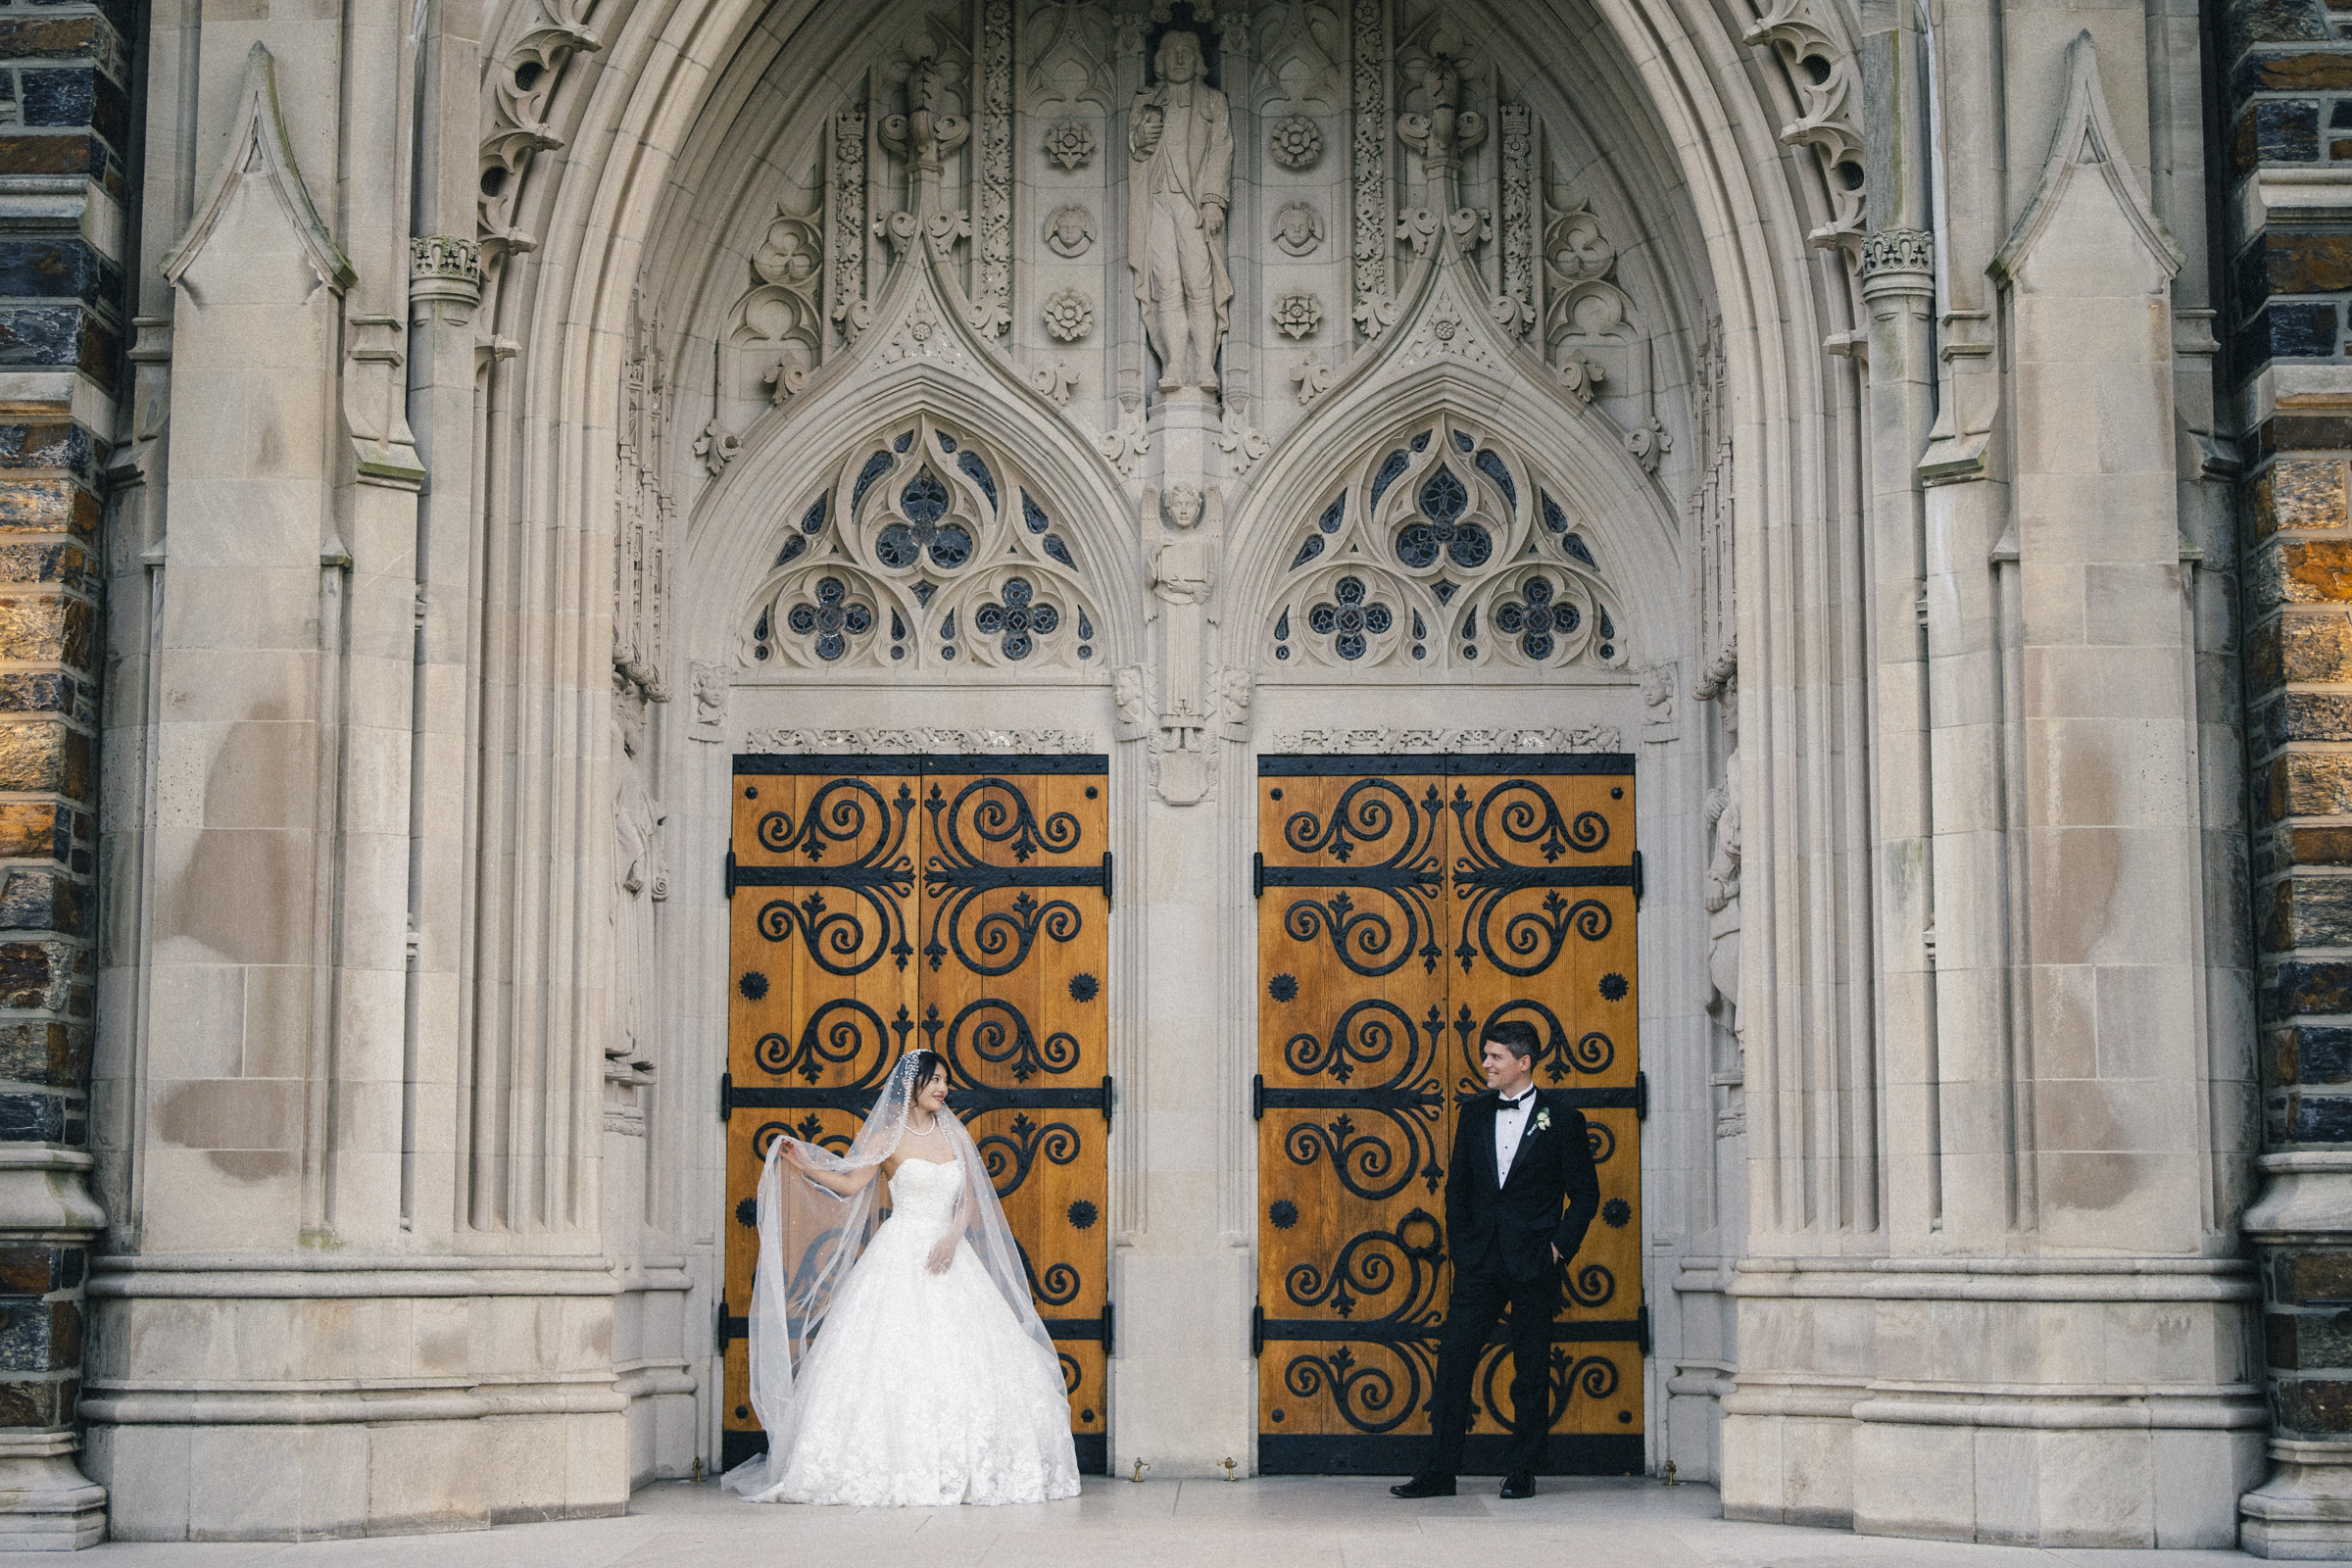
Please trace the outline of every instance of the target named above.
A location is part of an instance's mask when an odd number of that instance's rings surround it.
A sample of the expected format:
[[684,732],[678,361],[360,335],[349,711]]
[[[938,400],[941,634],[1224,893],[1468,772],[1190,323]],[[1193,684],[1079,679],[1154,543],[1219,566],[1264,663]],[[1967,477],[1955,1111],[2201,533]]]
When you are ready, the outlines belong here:
[[640,1490],[626,1519],[315,1544],[106,1544],[132,1568],[2206,1568],[2234,1552],[2044,1552],[1726,1523],[1715,1488],[1548,1481],[1501,1502],[1397,1502],[1385,1481],[1087,1481],[1007,1509],[760,1507],[715,1486]]

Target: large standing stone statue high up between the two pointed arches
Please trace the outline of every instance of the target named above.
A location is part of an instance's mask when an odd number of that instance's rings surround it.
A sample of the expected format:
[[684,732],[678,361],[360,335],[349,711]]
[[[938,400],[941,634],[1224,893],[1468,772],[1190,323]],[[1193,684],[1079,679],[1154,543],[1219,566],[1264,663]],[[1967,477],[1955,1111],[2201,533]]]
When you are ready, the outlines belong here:
[[1232,113],[1202,80],[1200,38],[1169,33],[1150,87],[1127,110],[1127,266],[1143,331],[1160,355],[1160,390],[1216,390],[1232,277],[1225,209],[1232,207]]

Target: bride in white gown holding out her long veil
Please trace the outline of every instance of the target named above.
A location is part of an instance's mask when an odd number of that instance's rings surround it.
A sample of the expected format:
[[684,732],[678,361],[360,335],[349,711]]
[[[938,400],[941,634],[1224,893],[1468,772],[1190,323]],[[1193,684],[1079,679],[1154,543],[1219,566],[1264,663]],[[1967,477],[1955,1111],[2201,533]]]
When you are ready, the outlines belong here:
[[753,1502],[1077,1495],[1061,1359],[936,1051],[898,1058],[847,1154],[769,1145],[750,1403],[767,1453],[724,1486]]

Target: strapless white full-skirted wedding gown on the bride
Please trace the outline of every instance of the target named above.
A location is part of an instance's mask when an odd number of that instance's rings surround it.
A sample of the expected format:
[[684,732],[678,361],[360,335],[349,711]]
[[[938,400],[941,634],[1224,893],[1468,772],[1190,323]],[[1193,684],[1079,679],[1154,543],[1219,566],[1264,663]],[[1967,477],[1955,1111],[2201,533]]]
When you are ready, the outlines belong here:
[[[929,1507],[1077,1495],[1070,1401],[969,1241],[931,1274],[960,1166],[908,1159],[891,1213],[795,1375],[800,1422],[755,1502]],[[779,1472],[769,1472],[779,1474]]]

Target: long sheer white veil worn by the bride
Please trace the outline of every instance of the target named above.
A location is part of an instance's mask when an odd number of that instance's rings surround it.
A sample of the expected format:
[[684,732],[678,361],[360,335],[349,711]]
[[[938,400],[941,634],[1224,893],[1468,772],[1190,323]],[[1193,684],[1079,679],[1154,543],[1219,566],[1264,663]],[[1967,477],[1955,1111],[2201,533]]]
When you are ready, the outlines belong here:
[[[833,1154],[804,1143],[811,1161],[835,1175],[849,1175],[889,1159],[898,1150],[898,1138],[906,1135],[917,1070],[927,1072],[938,1060],[929,1051],[901,1056],[889,1079],[882,1081],[882,1093],[849,1152]],[[981,1159],[981,1150],[960,1119],[943,1114],[941,1126],[964,1171],[964,1190],[957,1197],[964,1241],[971,1244],[988,1279],[1011,1307],[1014,1321],[1035,1347],[1035,1375],[1051,1378],[1054,1387],[1063,1387],[1061,1356],[1030,1302],[1028,1265],[1004,1225],[1004,1206],[997,1204],[988,1161]],[[849,1269],[882,1222],[887,1197],[880,1173],[842,1197],[793,1168],[783,1157],[783,1145],[786,1135],[779,1133],[767,1145],[767,1164],[760,1168],[760,1262],[750,1293],[750,1408],[767,1432],[767,1453],[755,1453],[720,1476],[722,1486],[739,1493],[760,1493],[783,1479],[797,1422],[793,1373],[826,1326],[835,1291],[849,1279]],[[906,1354],[922,1354],[922,1347],[908,1345]],[[1007,1368],[1007,1375],[1023,1375],[1023,1371]]]

